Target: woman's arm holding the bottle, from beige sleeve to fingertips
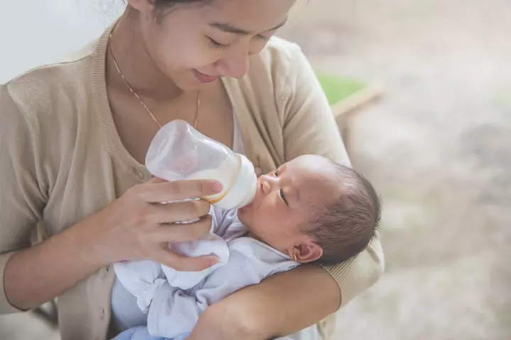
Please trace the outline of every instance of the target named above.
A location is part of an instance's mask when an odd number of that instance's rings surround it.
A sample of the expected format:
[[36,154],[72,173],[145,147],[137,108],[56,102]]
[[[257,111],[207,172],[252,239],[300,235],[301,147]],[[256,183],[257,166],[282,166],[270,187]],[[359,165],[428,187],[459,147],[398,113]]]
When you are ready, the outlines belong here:
[[[211,266],[212,256],[184,258],[161,246],[162,242],[196,239],[209,231],[209,218],[193,225],[160,225],[207,215],[209,203],[153,204],[218,192],[210,181],[153,179],[30,247],[31,233],[43,219],[48,200],[43,166],[38,164],[38,149],[48,145],[40,145],[34,137],[44,134],[35,132],[36,119],[21,113],[7,87],[0,86],[0,314],[36,307],[121,259],[153,259],[185,270]],[[40,163],[47,165],[44,161]]]

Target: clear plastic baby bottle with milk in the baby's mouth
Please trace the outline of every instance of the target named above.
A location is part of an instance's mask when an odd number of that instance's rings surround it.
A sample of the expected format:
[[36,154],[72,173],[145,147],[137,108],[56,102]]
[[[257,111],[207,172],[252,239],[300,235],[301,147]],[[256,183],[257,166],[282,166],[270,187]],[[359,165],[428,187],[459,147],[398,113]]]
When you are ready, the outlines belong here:
[[219,181],[221,193],[200,198],[221,209],[241,208],[255,196],[257,177],[253,164],[184,120],[172,120],[158,131],[145,157],[145,166],[151,174],[167,181]]

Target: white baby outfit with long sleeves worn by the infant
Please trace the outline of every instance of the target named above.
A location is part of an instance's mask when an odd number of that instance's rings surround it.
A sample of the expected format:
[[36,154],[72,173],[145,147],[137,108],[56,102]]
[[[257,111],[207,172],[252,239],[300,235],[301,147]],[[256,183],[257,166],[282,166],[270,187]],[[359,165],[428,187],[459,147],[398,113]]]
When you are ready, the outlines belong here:
[[219,256],[219,263],[206,271],[175,271],[153,261],[114,265],[118,280],[136,297],[138,307],[148,311],[148,331],[152,336],[184,339],[212,303],[300,264],[268,244],[243,236],[246,229],[236,210],[211,208],[210,214],[210,234],[196,242],[171,246],[189,256]]

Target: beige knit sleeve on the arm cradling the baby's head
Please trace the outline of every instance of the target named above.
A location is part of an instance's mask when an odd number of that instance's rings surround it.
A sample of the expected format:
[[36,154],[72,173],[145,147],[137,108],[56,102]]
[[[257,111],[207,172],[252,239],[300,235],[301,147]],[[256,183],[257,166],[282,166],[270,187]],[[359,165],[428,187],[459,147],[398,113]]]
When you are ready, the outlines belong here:
[[[277,92],[282,114],[285,161],[302,154],[319,154],[351,165],[339,129],[314,70],[295,44],[286,42],[287,72]],[[384,258],[377,232],[367,248],[337,266],[325,266],[339,284],[342,305],[370,288],[383,274]]]

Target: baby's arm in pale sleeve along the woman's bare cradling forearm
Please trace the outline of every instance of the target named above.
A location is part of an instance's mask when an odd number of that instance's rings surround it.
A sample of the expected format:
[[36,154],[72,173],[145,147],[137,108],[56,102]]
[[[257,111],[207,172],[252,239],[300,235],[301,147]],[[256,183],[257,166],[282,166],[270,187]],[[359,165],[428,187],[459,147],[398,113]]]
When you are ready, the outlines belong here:
[[167,283],[161,285],[149,307],[149,334],[173,339],[189,333],[209,305],[247,285],[259,283],[265,274],[255,270],[246,256],[231,251],[229,263],[211,273],[191,295]]

